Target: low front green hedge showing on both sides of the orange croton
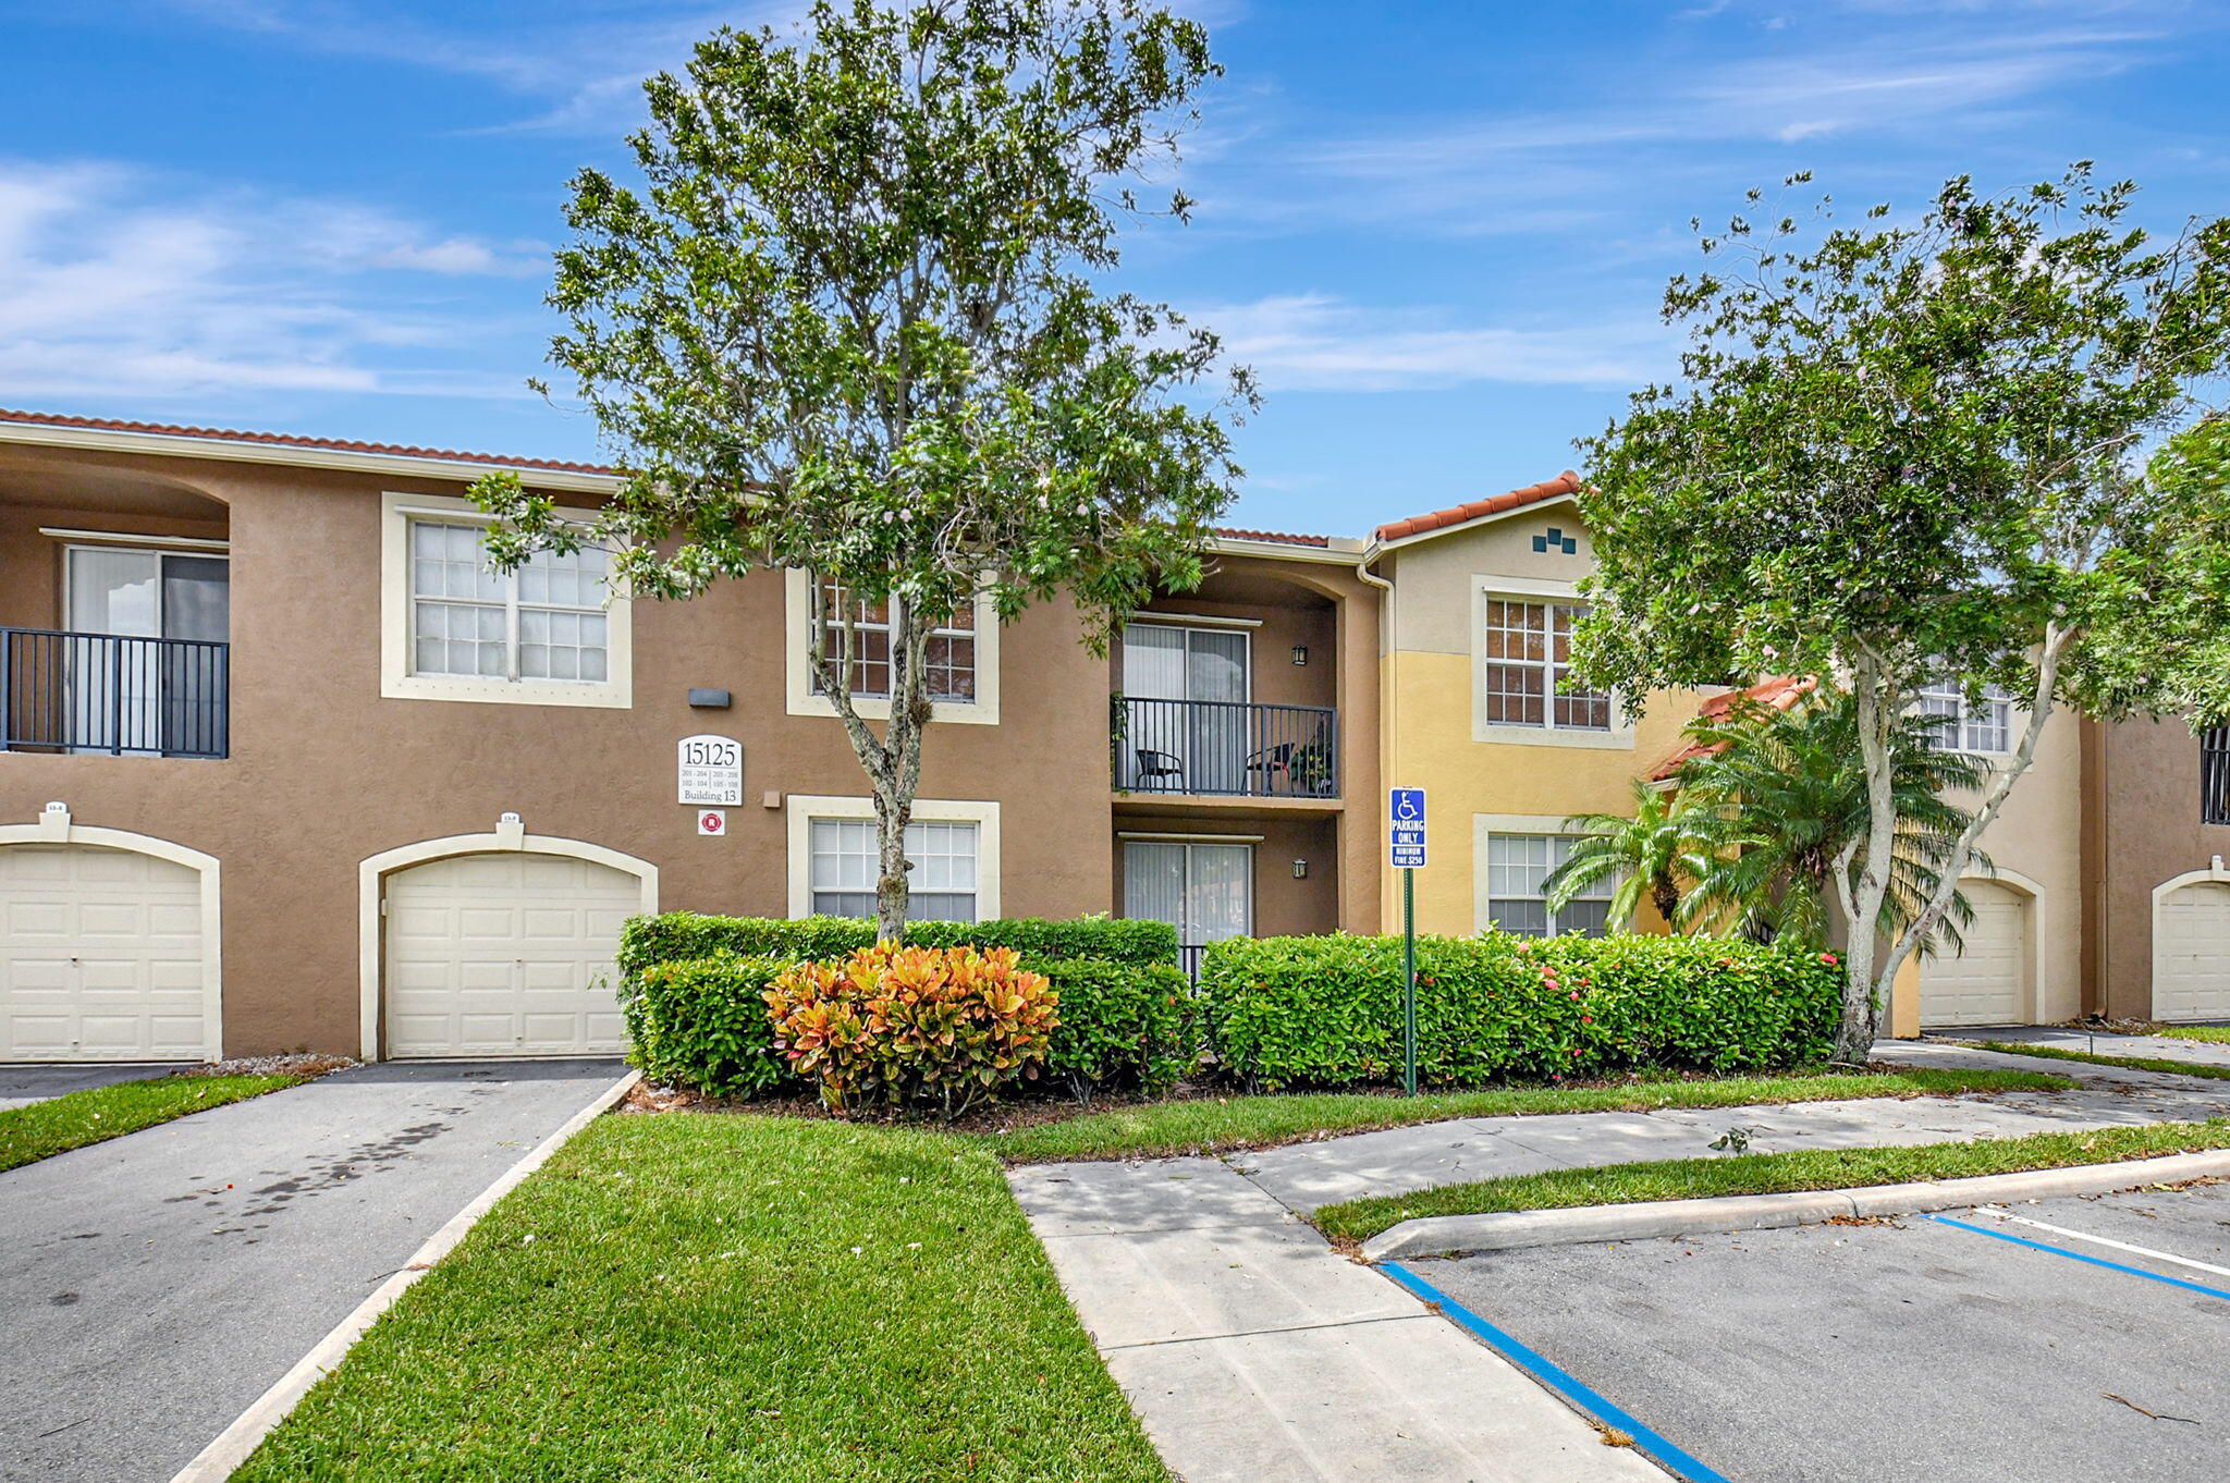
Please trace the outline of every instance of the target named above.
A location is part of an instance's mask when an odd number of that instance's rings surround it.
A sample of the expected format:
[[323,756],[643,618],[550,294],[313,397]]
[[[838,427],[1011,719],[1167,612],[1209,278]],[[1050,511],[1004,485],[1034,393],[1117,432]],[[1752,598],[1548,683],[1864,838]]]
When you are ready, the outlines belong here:
[[[694,919],[694,923],[723,921],[734,919]],[[850,948],[825,957],[845,954]],[[789,1075],[774,1050],[774,1030],[760,999],[774,977],[794,961],[803,959],[787,952],[711,952],[682,961],[647,961],[629,972],[620,1004],[636,1066],[653,1082],[689,1086],[711,1097],[752,1097],[792,1088],[789,1084],[803,1091],[805,1084]],[[1079,1099],[1115,1088],[1162,1091],[1198,1062],[1191,983],[1175,963],[1026,952],[1021,966],[1046,975],[1061,997],[1059,1028],[1046,1057],[1046,1079],[1053,1086]]]

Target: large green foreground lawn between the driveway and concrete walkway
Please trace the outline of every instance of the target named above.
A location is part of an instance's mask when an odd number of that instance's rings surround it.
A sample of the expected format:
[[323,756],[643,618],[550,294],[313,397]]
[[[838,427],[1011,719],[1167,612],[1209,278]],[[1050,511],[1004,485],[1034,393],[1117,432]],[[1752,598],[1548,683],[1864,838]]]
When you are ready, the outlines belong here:
[[234,1483],[341,1476],[1166,1472],[972,1140],[613,1115],[404,1293]]

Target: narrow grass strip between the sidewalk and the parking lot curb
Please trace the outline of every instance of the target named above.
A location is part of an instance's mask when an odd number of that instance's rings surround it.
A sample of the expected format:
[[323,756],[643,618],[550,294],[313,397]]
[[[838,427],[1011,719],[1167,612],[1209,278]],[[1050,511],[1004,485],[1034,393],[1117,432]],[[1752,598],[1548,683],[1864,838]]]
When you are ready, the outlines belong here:
[[2112,1164],[2156,1153],[2230,1148],[2230,1119],[2159,1122],[2090,1133],[2032,1133],[1918,1148],[1797,1148],[1737,1157],[1655,1160],[1603,1169],[1554,1169],[1476,1184],[1443,1184],[1414,1195],[1378,1195],[1327,1204],[1318,1229],[1340,1240],[1365,1240],[1425,1215],[1483,1215],[1490,1211],[1548,1211],[1577,1204],[1635,1204],[1641,1200],[1697,1200],[1704,1195],[1773,1195],[1793,1189],[1855,1189],[1907,1180],[1960,1180],[1978,1173]]

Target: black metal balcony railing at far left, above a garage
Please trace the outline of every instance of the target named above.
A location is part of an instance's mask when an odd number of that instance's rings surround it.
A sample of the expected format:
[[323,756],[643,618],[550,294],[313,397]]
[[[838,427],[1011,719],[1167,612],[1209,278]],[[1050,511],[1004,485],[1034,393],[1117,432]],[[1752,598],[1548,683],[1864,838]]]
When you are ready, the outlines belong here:
[[0,752],[225,756],[232,647],[0,629]]

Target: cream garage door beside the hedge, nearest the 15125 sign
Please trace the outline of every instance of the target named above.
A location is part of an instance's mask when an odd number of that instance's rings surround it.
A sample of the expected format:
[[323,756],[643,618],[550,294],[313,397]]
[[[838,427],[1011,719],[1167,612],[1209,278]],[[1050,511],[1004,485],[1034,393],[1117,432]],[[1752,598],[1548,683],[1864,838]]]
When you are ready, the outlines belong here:
[[388,1055],[627,1048],[620,923],[642,883],[555,854],[462,854],[388,876]]

